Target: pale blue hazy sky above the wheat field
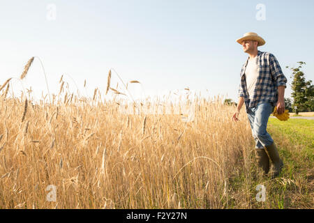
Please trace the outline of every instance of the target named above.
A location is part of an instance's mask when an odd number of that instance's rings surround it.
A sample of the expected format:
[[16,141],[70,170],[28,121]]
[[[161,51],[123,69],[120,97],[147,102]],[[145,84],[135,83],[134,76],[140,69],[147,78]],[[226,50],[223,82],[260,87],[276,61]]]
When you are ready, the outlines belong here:
[[[266,20],[255,17],[258,3],[265,6]],[[50,4],[56,6],[55,20],[47,20]],[[75,82],[84,95],[96,87],[104,92],[114,68],[125,82],[142,82],[147,95],[189,87],[237,100],[248,55],[235,40],[253,31],[266,40],[260,51],[281,64],[290,97],[285,66],[305,61],[306,78],[314,80],[313,6],[313,1],[1,0],[0,82],[20,77],[24,64],[38,56],[51,93],[58,93],[61,75],[72,91]],[[116,82],[113,72],[114,87]],[[21,83],[12,84],[17,94]],[[38,98],[47,93],[37,59],[23,84]]]

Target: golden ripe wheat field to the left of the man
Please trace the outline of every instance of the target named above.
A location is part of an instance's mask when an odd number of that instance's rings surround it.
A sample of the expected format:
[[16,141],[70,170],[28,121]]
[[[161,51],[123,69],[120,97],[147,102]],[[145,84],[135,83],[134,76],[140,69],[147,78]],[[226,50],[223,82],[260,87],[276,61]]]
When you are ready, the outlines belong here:
[[[235,107],[220,98],[195,98],[195,117],[182,121],[121,112],[97,89],[93,98],[64,92],[62,78],[50,102],[8,97],[9,81],[0,90],[0,208],[225,208],[230,176],[251,173],[246,114],[232,122]],[[237,199],[247,208],[246,189]]]

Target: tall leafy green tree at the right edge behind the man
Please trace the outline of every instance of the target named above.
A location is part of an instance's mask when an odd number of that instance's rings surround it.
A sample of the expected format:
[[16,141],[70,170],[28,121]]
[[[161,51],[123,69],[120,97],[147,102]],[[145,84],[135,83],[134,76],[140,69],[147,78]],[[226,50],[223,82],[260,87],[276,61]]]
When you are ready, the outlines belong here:
[[294,109],[296,114],[299,112],[311,112],[314,109],[314,86],[311,84],[311,80],[306,82],[304,72],[301,71],[302,65],[306,63],[303,61],[297,63],[299,63],[297,68],[286,66],[286,68],[292,70],[291,96],[293,98],[293,109],[295,106],[297,107],[297,109]]

